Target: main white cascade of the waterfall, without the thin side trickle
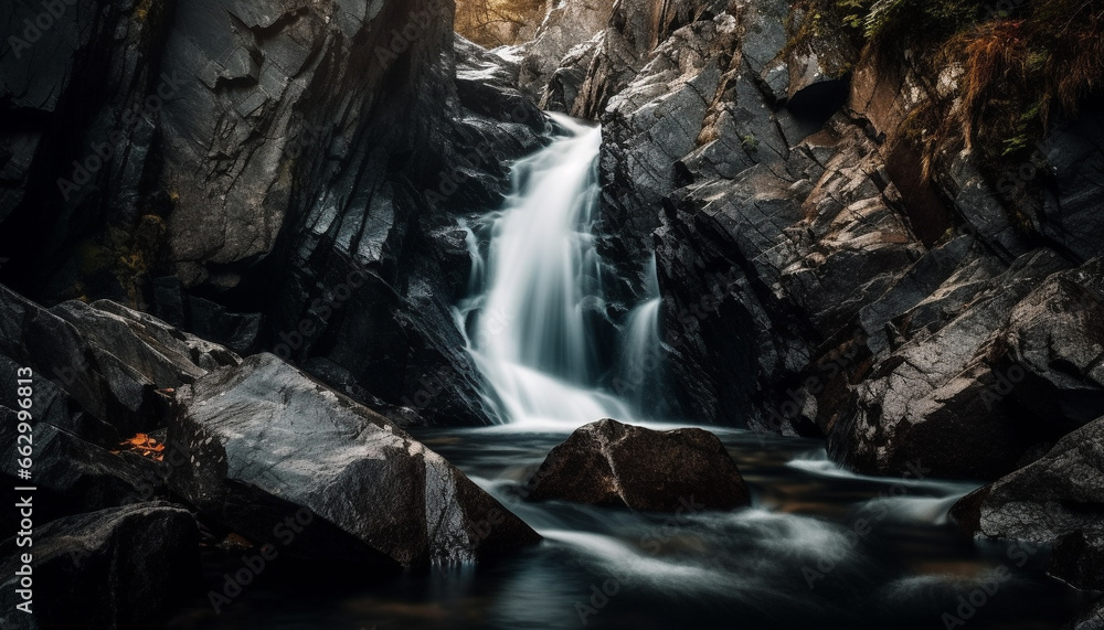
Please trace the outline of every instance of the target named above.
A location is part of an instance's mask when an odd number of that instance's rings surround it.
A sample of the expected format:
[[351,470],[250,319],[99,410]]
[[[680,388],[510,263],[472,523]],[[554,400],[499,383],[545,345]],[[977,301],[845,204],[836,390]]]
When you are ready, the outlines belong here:
[[601,298],[592,227],[598,202],[602,130],[552,115],[569,131],[519,161],[506,209],[490,218],[482,259],[474,233],[473,297],[457,309],[468,351],[501,421],[577,427],[631,419],[597,387],[587,299]]

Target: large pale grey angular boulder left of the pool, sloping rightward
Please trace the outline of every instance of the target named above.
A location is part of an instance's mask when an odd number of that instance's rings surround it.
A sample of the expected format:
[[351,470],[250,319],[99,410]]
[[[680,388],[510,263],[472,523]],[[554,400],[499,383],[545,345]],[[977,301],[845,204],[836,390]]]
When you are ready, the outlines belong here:
[[254,543],[293,516],[312,522],[293,555],[378,566],[540,540],[440,456],[270,354],[183,387],[178,404],[168,441],[188,463],[170,487]]

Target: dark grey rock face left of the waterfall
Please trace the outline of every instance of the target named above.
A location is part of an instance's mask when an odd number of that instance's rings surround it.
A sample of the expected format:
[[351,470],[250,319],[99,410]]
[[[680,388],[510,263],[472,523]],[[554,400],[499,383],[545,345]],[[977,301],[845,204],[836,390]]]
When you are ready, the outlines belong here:
[[449,0],[68,11],[0,60],[25,130],[0,131],[0,281],[325,364],[423,421],[486,421],[448,312],[456,214],[493,207],[543,141],[516,65],[458,40]]

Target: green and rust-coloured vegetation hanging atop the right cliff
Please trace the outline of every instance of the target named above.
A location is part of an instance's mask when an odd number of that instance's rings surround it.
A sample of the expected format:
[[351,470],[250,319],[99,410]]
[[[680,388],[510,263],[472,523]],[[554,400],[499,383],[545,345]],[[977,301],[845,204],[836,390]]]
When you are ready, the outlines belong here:
[[1017,158],[1104,79],[1104,0],[814,0],[872,49],[909,51],[958,89],[934,104],[989,161]]

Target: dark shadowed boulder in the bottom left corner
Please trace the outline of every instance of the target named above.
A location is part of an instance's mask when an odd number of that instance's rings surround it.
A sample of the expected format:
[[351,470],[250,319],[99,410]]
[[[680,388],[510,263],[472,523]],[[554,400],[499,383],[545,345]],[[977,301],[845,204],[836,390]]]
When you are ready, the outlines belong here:
[[[158,627],[200,579],[199,531],[168,503],[141,503],[67,516],[34,530],[34,547],[0,543],[0,605],[8,628]],[[33,617],[17,611],[22,554],[33,554]],[[14,623],[10,623],[14,622]]]

